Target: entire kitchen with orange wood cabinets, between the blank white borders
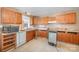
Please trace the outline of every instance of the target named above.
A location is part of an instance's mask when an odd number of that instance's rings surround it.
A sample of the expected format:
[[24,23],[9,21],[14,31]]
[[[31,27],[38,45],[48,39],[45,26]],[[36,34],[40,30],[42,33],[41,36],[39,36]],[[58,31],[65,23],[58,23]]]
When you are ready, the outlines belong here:
[[79,8],[0,7],[0,51],[78,52]]

